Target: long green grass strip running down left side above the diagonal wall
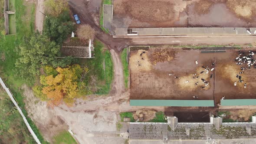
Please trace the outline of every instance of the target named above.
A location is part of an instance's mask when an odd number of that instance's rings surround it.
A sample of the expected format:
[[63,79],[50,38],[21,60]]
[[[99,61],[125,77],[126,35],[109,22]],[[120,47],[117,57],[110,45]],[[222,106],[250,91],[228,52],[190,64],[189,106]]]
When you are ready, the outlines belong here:
[[25,3],[24,1],[25,0],[15,1],[16,13],[14,18],[17,23],[16,35],[7,35],[5,36],[5,39],[0,39],[0,54],[5,56],[5,61],[0,60],[0,68],[2,68],[0,76],[6,80],[7,85],[10,87],[14,97],[17,99],[20,108],[30,123],[31,128],[39,140],[45,144],[47,142],[44,141],[38,128],[27,116],[25,103],[23,102],[23,91],[21,90],[21,85],[27,84],[31,86],[32,84],[19,79],[19,76],[15,73],[15,62],[18,58],[18,54],[15,49],[24,41],[24,38],[29,37],[34,33],[35,5],[33,3]]

